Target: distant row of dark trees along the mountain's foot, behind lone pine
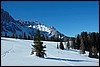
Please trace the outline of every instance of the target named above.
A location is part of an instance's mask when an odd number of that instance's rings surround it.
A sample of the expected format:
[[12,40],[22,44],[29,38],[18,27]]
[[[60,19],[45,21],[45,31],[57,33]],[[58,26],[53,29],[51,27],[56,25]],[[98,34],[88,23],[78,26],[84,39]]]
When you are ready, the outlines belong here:
[[[33,40],[35,37],[36,37],[36,34],[34,34],[33,36],[30,35],[30,34],[26,34],[25,32],[22,32],[21,34],[16,34],[16,33],[13,33],[13,34],[8,34],[7,32],[5,32],[5,34],[2,34],[1,33],[1,36],[2,37],[7,37],[7,38],[16,38],[16,39],[25,39],[25,40]],[[44,36],[44,34],[40,34],[41,36],[41,40],[42,41],[55,41],[55,42],[59,42],[61,39],[58,38],[58,37],[55,37],[55,36],[51,36],[51,37],[48,37],[47,35]]]

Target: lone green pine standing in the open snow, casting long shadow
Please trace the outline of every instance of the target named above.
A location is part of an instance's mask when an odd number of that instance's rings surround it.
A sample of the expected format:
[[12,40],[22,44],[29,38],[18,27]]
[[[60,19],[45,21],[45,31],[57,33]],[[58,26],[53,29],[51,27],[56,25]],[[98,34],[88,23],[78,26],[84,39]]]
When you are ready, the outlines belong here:
[[32,48],[31,54],[34,54],[34,52],[36,52],[36,56],[44,58],[44,55],[46,55],[44,50],[44,48],[46,48],[46,45],[42,46],[43,42],[41,42],[40,40],[40,31],[37,30],[37,33],[34,36],[34,44],[32,45],[34,48]]

